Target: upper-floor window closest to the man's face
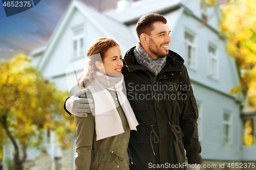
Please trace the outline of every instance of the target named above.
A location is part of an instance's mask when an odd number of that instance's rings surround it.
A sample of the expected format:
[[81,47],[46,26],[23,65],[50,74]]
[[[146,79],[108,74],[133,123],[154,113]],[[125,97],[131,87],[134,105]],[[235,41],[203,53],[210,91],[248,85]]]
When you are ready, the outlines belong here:
[[195,57],[195,35],[185,31],[185,56],[187,66],[195,68],[196,67],[196,57]]

